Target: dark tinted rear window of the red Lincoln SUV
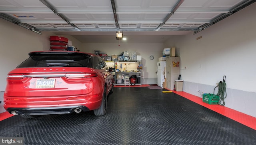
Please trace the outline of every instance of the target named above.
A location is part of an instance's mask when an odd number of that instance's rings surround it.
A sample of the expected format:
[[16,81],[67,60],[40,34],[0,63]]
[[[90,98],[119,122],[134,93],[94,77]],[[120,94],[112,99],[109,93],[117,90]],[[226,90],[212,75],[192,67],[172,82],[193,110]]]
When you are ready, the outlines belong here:
[[82,53],[31,53],[17,68],[90,67],[90,56]]

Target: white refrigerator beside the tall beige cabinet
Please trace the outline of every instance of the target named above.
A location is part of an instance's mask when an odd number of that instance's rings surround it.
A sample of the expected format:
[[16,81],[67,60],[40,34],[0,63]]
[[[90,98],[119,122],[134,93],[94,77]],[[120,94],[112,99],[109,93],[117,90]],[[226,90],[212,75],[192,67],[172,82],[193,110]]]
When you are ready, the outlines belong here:
[[165,76],[165,61],[157,62],[156,74],[157,74],[157,85],[163,87],[164,76]]

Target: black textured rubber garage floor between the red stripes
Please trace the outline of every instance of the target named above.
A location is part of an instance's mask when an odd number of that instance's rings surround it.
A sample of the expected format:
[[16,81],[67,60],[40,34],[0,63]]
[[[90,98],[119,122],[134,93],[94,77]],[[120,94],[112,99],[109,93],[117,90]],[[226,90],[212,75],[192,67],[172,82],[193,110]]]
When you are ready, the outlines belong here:
[[175,93],[115,87],[106,115],[92,111],[0,121],[24,145],[255,145],[256,130]]

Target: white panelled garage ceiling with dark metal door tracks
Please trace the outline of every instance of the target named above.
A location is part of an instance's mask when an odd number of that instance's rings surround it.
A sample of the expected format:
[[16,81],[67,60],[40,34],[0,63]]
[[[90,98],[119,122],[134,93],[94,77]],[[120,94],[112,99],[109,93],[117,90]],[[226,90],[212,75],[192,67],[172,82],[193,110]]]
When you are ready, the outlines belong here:
[[164,42],[200,32],[256,0],[1,0],[0,18],[81,42]]

